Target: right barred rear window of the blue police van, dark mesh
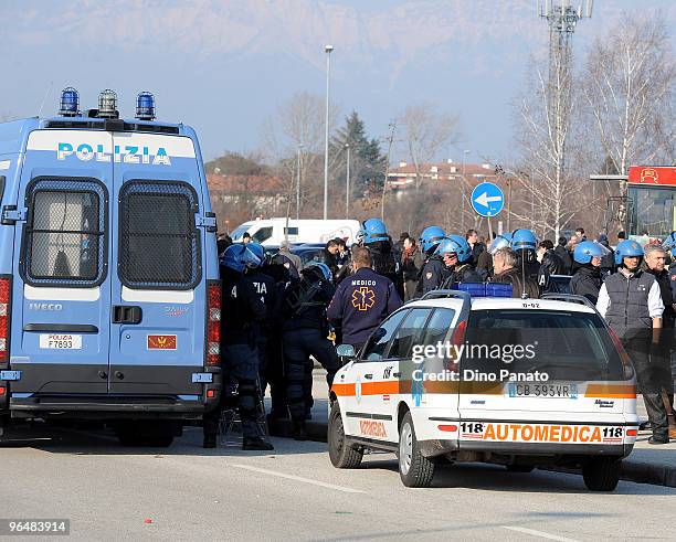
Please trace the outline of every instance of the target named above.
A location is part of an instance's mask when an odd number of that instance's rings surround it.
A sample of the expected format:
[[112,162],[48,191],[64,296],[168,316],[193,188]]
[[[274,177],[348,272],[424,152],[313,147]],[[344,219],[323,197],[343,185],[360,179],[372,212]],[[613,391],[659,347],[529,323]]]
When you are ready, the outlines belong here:
[[183,182],[120,190],[119,278],[128,288],[192,289],[201,279],[197,194]]

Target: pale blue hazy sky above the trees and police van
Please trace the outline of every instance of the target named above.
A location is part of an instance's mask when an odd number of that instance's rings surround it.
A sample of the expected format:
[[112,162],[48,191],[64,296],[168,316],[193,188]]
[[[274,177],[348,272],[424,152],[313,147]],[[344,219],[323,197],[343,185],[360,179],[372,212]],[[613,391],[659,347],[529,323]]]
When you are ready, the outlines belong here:
[[[582,0],[574,0],[573,3]],[[331,43],[332,98],[356,109],[373,137],[418,102],[461,115],[468,149],[506,160],[509,103],[531,52],[547,50],[536,0],[0,0],[0,115],[57,109],[75,86],[84,107],[117,91],[124,116],[139,91],[158,116],[196,127],[205,159],[261,142],[266,117],[299,91],[324,96]],[[596,0],[578,26],[580,56],[621,17],[661,10],[676,28],[675,0]],[[673,36],[674,38],[674,36]],[[46,96],[46,99],[45,99]],[[395,159],[397,157],[393,157]]]

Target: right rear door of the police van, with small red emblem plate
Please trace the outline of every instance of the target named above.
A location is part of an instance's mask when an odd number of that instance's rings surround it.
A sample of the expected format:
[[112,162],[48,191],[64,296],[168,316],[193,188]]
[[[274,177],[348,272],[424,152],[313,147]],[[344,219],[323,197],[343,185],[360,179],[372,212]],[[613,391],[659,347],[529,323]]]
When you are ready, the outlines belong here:
[[109,391],[199,401],[203,193],[188,137],[114,134]]

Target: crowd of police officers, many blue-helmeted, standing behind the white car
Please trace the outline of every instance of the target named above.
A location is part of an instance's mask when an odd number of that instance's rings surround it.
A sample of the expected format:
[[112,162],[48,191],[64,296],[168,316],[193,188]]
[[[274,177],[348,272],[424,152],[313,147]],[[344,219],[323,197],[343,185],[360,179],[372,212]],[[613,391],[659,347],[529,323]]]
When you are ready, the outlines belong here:
[[[422,258],[416,275],[406,276],[406,288],[413,291],[406,291],[406,299],[485,281],[511,285],[517,298],[538,298],[553,288],[552,275],[564,267],[552,243],[538,243],[529,230],[497,235],[485,251],[471,244],[472,232],[447,235],[434,225],[422,232]],[[411,243],[415,245],[409,240],[406,251]],[[572,294],[596,305],[629,353],[646,403],[651,444],[668,443],[667,412],[674,397],[676,264],[665,268],[666,251],[676,257],[676,232],[663,246],[648,245],[645,251],[635,241],[621,241],[614,254],[608,243],[583,240],[572,252],[569,286]],[[311,418],[311,359],[326,370],[330,387],[340,366],[336,344],[352,344],[359,351],[402,305],[402,255],[378,219],[363,223],[351,251],[342,240],[334,240],[327,243],[324,262],[302,269],[288,249],[271,257],[253,242],[220,245],[219,252],[223,391],[220,407],[204,415],[203,445],[216,446],[222,413],[234,408],[243,449],[273,449],[266,427],[275,434],[279,422],[289,418],[292,436],[304,440],[306,421]],[[265,417],[267,385],[272,406]]]

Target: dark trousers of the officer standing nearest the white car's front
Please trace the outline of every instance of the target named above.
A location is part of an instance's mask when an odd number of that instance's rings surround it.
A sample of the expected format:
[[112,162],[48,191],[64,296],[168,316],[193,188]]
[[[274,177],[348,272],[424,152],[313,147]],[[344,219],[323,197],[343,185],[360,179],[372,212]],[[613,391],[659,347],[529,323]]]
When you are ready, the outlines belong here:
[[292,419],[305,419],[306,405],[311,404],[311,379],[315,358],[326,370],[329,387],[340,368],[336,348],[319,329],[294,329],[284,332],[284,373],[286,380],[286,401]]

